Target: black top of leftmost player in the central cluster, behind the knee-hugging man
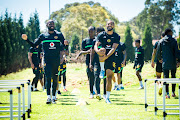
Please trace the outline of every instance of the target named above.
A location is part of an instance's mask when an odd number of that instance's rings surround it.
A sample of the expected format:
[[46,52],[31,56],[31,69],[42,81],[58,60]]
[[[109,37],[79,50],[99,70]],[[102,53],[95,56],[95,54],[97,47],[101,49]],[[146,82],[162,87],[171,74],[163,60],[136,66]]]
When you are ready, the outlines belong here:
[[[93,39],[86,38],[82,41],[82,50],[87,51],[92,48]],[[90,62],[90,54],[86,55],[86,65],[89,65]]]

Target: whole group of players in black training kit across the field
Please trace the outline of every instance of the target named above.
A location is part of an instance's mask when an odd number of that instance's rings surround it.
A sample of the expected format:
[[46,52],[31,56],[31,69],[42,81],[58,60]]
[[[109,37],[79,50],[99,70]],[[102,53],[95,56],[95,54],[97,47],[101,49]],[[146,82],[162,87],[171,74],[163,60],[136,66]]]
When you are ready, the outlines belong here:
[[[106,31],[103,27],[89,27],[89,38],[86,38],[82,41],[82,51],[78,54],[76,59],[79,58],[80,55],[86,55],[86,66],[87,66],[87,76],[89,80],[90,86],[90,99],[94,98],[94,94],[96,94],[96,98],[101,100],[100,94],[100,80],[104,79],[104,95],[103,98],[105,99],[107,104],[111,104],[109,99],[111,89],[112,89],[112,80],[114,81],[114,89],[113,90],[120,90],[124,89],[122,85],[122,70],[123,67],[126,65],[126,46],[124,43],[120,42],[120,36],[114,32],[114,22],[109,20],[106,24]],[[31,63],[31,67],[33,68],[33,72],[35,74],[35,78],[33,79],[32,84],[35,85],[35,91],[37,91],[37,81],[38,79],[42,79],[42,75],[40,72],[43,71],[45,73],[45,80],[46,81],[46,89],[47,89],[47,104],[56,102],[56,94],[58,92],[58,88],[60,88],[61,84],[57,84],[57,81],[61,83],[61,75],[63,75],[63,83],[64,83],[64,91],[67,91],[65,88],[65,81],[66,81],[66,55],[69,54],[68,50],[68,41],[64,39],[62,33],[57,32],[55,30],[54,21],[49,20],[47,22],[48,32],[39,35],[39,37],[35,40],[35,42],[31,42],[26,34],[22,35],[22,38],[26,40],[32,47],[28,53],[28,58]],[[170,32],[165,32],[166,40],[173,39],[172,35],[170,38]],[[163,39],[162,38],[162,39]],[[174,40],[174,39],[173,39]],[[163,40],[161,40],[163,41]],[[175,41],[175,40],[174,40]],[[173,43],[174,45],[175,43]],[[177,45],[177,41],[176,41]],[[38,47],[39,46],[39,47]],[[140,40],[135,40],[135,63],[134,69],[136,69],[136,75],[139,79],[140,88],[144,89],[141,77],[141,70],[144,65],[144,49],[140,46]],[[154,67],[154,59],[157,55],[157,61],[161,61],[162,69],[164,68],[164,62],[168,57],[163,54],[164,44],[159,42],[159,44],[154,48],[153,57],[152,57],[152,67]],[[171,47],[173,50],[175,47]],[[156,52],[157,49],[157,53]],[[178,50],[178,48],[177,48]],[[175,50],[176,52],[178,52]],[[41,55],[41,52],[43,55]],[[175,53],[175,61],[178,56]],[[36,56],[36,62],[32,59],[33,56]],[[43,56],[43,57],[42,57]],[[41,60],[43,59],[43,60]],[[163,60],[162,60],[163,59]],[[172,61],[171,61],[172,62]],[[42,66],[43,65],[43,66]],[[40,66],[40,68],[39,68]],[[157,63],[158,67],[158,63]],[[166,68],[167,69],[167,68]],[[170,69],[170,68],[168,68]],[[174,68],[173,68],[174,69]],[[172,70],[172,69],[170,69]],[[176,69],[175,69],[176,70]],[[158,71],[157,71],[158,72]],[[167,75],[168,70],[164,70],[166,75],[164,77],[169,77]],[[171,71],[171,73],[173,70]],[[117,73],[117,82],[114,77],[114,73]],[[173,72],[175,73],[175,72]],[[169,73],[168,73],[169,74]],[[159,74],[157,74],[159,78]],[[175,77],[175,76],[172,76]],[[50,95],[50,88],[51,88],[51,81],[52,84],[52,98]],[[95,84],[95,86],[94,86]],[[42,87],[44,88],[44,84],[41,82]],[[174,89],[173,89],[174,90]],[[174,90],[175,91],[175,90]],[[169,92],[167,92],[169,94]],[[167,94],[167,95],[168,95]],[[173,93],[175,96],[175,93]]]

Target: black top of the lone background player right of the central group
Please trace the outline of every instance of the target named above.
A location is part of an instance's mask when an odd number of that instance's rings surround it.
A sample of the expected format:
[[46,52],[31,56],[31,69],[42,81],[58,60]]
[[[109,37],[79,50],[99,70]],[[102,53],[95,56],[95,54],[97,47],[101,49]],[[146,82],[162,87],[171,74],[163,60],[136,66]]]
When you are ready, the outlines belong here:
[[136,63],[144,64],[144,49],[141,46],[135,49],[135,64]]

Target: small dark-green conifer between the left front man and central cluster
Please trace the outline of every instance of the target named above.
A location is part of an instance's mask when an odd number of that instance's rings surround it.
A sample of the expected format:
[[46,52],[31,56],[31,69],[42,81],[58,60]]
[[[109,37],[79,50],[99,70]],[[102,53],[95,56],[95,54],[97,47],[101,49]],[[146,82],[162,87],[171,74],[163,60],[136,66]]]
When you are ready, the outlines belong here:
[[71,46],[71,53],[74,53],[75,50],[80,50],[79,37],[76,34],[73,34],[70,46]]

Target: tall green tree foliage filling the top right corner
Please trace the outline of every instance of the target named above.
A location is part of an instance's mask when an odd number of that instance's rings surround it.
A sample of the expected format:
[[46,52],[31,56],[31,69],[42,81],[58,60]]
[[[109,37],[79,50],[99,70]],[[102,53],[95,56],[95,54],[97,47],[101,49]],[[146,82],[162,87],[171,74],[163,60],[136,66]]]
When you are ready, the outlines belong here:
[[146,0],[144,10],[131,20],[141,31],[145,29],[146,23],[151,25],[153,39],[160,39],[161,33],[166,28],[173,29],[180,19],[178,8],[179,0]]

